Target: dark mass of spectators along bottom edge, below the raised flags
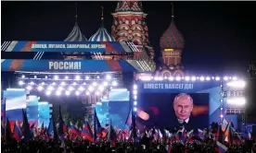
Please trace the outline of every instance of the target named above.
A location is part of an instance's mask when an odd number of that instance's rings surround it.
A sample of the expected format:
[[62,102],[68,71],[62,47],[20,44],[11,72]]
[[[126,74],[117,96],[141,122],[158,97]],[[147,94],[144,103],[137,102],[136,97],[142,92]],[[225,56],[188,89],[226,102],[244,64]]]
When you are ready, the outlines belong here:
[[97,138],[96,142],[83,139],[82,137],[70,138],[66,136],[64,139],[59,139],[58,142],[54,139],[42,137],[33,137],[30,141],[25,141],[22,138],[17,141],[13,138],[6,142],[2,136],[1,151],[4,153],[215,153],[215,152],[239,152],[246,153],[255,151],[255,145],[252,148],[246,148],[245,143],[228,143],[223,141],[227,150],[222,150],[216,145],[217,140],[214,137],[206,136],[204,139],[193,135],[189,139],[171,140],[171,139],[156,139],[153,135],[149,136],[144,133],[137,139],[132,141],[129,139],[118,139],[115,144],[110,143],[108,138]]

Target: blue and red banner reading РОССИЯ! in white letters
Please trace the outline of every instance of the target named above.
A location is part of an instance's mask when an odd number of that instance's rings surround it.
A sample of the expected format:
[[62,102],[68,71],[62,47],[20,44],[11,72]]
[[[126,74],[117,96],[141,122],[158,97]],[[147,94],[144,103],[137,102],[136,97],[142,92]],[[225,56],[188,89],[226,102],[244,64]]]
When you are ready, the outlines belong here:
[[137,72],[133,65],[125,60],[2,60],[2,71],[126,71]]

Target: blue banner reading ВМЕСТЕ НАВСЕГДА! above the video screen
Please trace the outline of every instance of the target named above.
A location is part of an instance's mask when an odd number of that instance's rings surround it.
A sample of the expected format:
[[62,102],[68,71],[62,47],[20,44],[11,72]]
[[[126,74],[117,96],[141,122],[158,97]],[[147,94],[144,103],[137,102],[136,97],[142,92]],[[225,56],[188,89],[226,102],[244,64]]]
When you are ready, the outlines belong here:
[[170,92],[170,93],[193,93],[209,88],[220,86],[219,81],[150,81],[150,82],[137,82],[139,92]]

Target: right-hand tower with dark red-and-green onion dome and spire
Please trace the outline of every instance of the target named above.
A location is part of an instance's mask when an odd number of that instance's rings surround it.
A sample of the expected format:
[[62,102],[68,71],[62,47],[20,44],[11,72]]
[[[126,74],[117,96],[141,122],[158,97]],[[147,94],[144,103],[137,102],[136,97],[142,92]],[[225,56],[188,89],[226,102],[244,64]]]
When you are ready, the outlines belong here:
[[162,53],[163,69],[169,69],[170,73],[163,76],[184,76],[184,67],[181,65],[182,52],[185,39],[174,23],[172,4],[172,22],[160,38],[160,50]]

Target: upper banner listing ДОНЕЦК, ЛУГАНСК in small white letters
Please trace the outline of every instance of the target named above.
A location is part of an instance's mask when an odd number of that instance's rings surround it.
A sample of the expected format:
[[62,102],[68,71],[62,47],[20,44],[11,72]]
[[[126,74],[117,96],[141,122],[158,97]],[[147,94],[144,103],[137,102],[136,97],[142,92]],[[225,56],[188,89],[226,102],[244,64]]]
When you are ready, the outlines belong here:
[[125,42],[116,41],[11,41],[5,52],[132,53]]

